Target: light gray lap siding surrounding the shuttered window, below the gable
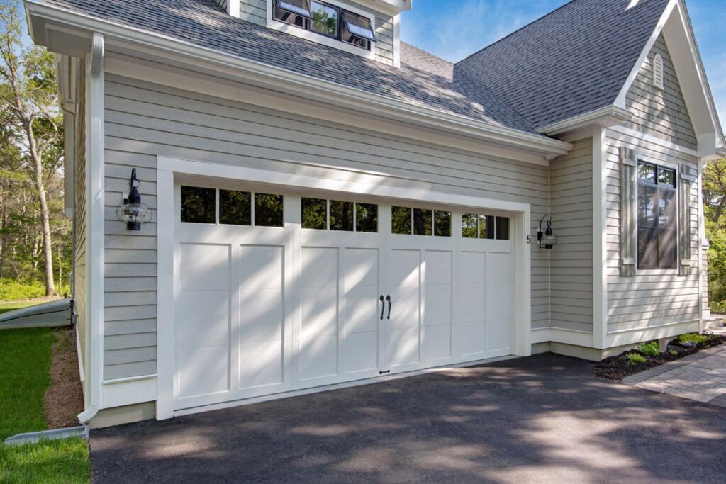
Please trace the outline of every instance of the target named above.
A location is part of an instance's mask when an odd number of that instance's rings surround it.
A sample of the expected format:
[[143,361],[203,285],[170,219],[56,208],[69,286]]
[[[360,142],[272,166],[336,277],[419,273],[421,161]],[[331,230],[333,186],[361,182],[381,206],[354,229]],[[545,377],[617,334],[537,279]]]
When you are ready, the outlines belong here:
[[692,273],[678,276],[677,270],[638,271],[620,276],[620,147],[634,148],[640,160],[652,163],[687,163],[696,169],[696,157],[675,149],[651,144],[608,131],[608,331],[654,327],[700,318],[698,293],[698,186],[690,190],[690,245]]

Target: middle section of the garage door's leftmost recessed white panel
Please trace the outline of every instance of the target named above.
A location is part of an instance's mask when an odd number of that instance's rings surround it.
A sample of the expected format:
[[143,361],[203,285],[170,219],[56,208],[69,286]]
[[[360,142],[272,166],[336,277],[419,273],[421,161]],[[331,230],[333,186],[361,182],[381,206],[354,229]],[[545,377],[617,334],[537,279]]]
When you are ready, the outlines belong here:
[[188,291],[181,298],[179,347],[229,345],[229,291]]

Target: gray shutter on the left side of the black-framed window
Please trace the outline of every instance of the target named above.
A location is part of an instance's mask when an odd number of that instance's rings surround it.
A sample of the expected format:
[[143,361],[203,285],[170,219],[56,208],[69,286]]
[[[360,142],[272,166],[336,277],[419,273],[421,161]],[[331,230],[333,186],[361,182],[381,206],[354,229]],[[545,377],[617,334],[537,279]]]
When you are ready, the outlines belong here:
[[620,148],[620,275],[635,276],[637,268],[637,213],[635,206],[637,158],[635,149]]

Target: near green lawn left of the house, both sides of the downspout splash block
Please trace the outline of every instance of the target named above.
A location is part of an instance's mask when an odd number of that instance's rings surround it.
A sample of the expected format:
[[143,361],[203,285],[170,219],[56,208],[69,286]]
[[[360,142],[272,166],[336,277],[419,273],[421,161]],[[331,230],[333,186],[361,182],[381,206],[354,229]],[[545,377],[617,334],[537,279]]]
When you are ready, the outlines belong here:
[[0,330],[0,482],[87,483],[91,462],[85,440],[46,441],[6,447],[22,432],[46,430],[43,397],[51,380],[55,329]]

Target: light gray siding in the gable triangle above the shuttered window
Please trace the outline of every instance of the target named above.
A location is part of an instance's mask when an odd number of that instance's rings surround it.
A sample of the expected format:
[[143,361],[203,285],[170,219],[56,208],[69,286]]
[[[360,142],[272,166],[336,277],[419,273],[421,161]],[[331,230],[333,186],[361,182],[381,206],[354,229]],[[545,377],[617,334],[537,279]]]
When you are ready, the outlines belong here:
[[[656,54],[663,57],[665,87],[662,91],[653,86],[653,59]],[[629,128],[696,149],[696,133],[662,35],[640,68],[626,99],[627,109],[634,115],[628,123]]]

